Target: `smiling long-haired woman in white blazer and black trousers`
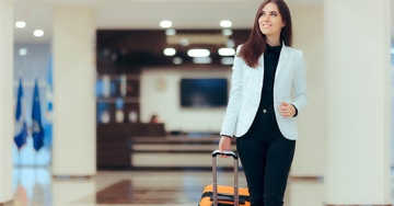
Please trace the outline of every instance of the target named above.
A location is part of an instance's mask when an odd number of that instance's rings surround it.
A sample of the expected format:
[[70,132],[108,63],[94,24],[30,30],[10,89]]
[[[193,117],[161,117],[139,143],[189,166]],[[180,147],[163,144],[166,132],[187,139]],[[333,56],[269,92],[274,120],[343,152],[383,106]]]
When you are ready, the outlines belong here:
[[291,15],[283,0],[257,10],[248,41],[239,46],[219,150],[232,137],[252,206],[281,206],[308,95],[301,50],[291,48]]

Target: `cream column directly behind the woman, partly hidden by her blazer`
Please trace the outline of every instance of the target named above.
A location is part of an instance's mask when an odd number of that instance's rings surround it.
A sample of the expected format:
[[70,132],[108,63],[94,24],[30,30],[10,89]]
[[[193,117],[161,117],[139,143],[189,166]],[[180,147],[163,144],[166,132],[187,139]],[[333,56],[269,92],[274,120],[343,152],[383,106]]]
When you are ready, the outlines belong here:
[[[292,178],[324,176],[327,148],[327,81],[324,69],[324,4],[289,4],[293,25],[293,47],[301,49],[305,59],[308,104],[297,117],[299,136]],[[320,121],[316,116],[324,116]],[[313,126],[311,123],[313,122]],[[297,195],[297,193],[294,193]]]

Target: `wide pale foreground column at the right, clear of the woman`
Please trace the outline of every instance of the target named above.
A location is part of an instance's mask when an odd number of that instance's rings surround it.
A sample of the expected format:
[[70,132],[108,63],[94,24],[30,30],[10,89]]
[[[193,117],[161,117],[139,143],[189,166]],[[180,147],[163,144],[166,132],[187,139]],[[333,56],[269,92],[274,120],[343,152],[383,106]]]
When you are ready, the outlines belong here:
[[329,0],[324,7],[328,82],[324,202],[392,205],[391,2]]

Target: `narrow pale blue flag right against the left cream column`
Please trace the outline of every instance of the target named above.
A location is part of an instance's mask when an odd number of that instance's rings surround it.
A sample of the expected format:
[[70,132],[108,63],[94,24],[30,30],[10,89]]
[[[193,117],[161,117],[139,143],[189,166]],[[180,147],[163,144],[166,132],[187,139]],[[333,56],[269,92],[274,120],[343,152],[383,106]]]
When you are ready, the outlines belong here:
[[45,146],[51,147],[53,139],[53,58],[49,58],[48,71],[47,71],[47,87],[46,87],[46,124],[45,124]]

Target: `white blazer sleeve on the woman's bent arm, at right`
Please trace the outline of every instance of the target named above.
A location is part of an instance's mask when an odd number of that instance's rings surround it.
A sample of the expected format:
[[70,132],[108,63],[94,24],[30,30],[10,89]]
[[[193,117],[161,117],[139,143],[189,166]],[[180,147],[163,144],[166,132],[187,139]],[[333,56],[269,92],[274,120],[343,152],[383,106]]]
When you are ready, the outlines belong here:
[[306,93],[306,75],[305,75],[305,62],[303,54],[300,50],[300,55],[297,58],[297,68],[293,78],[293,102],[292,104],[297,107],[298,114],[303,111],[308,102]]

